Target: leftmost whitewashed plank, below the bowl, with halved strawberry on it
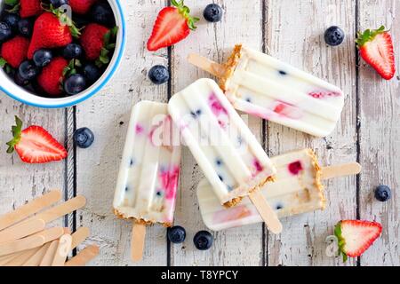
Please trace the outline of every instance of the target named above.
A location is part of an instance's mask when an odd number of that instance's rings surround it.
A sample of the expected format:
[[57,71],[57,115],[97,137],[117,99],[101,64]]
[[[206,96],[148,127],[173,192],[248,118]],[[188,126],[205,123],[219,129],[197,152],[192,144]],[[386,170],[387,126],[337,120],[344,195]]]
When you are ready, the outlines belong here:
[[[11,127],[18,115],[23,127],[43,126],[64,144],[64,110],[44,110],[25,106],[0,92],[0,214],[16,209],[43,193],[64,188],[64,162],[26,164],[18,154],[6,154],[6,142],[12,139]],[[55,225],[63,225],[58,220]]]

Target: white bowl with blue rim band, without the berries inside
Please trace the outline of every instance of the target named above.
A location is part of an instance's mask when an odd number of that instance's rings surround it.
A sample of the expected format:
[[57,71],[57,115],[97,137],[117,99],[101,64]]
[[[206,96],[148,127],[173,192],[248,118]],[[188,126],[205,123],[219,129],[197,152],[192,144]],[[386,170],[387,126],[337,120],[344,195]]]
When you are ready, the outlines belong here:
[[[30,105],[44,108],[59,108],[67,106],[75,106],[85,99],[89,99],[98,91],[100,91],[106,83],[111,79],[112,75],[116,73],[116,69],[119,66],[121,59],[123,58],[125,43],[126,43],[126,23],[124,19],[124,12],[121,6],[120,0],[108,0],[111,8],[113,9],[116,17],[116,26],[119,27],[118,35],[116,37],[116,50],[113,58],[111,59],[106,71],[101,75],[100,79],[92,84],[92,86],[85,91],[66,98],[50,99],[36,96],[19,85],[14,83],[12,79],[4,73],[4,70],[0,68],[0,91],[3,91],[12,99],[19,100],[20,102]],[[0,0],[0,6],[3,9],[4,0]]]

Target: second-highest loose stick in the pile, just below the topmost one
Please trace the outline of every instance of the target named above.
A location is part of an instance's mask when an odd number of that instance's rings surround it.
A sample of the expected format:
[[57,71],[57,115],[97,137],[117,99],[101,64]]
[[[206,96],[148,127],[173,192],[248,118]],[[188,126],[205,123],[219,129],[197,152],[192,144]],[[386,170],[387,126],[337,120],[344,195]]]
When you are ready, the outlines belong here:
[[38,219],[43,219],[44,222],[46,223],[50,223],[60,217],[63,217],[69,213],[72,213],[77,209],[84,207],[85,204],[86,204],[86,199],[84,198],[84,196],[78,195],[73,199],[65,201],[60,205],[54,206],[51,209],[47,209],[44,212],[37,214],[35,217],[28,218],[28,220],[32,218],[38,218]]

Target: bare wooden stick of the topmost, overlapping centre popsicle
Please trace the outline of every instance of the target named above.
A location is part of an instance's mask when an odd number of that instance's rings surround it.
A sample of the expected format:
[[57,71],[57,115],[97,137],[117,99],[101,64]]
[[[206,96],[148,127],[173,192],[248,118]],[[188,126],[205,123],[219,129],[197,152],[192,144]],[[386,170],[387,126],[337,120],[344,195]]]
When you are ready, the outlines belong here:
[[282,233],[282,224],[276,216],[276,212],[269,206],[267,200],[260,190],[255,190],[249,195],[252,204],[259,211],[260,216],[272,233]]

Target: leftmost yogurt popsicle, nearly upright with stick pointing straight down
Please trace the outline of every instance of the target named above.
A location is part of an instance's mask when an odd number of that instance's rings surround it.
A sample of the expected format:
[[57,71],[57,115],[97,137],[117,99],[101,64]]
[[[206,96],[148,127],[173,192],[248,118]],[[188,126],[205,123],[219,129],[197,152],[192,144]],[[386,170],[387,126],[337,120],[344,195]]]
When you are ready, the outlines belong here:
[[145,225],[173,222],[180,174],[180,144],[173,133],[166,104],[133,106],[113,205],[117,217],[133,220],[134,260],[141,258]]

